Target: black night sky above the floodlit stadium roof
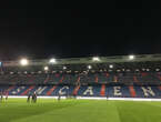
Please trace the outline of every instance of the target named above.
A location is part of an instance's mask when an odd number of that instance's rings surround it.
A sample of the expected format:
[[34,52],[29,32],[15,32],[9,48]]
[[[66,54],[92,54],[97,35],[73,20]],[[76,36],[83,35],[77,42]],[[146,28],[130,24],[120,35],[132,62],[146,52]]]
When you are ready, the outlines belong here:
[[161,53],[160,2],[87,9],[12,4],[0,9],[0,59]]

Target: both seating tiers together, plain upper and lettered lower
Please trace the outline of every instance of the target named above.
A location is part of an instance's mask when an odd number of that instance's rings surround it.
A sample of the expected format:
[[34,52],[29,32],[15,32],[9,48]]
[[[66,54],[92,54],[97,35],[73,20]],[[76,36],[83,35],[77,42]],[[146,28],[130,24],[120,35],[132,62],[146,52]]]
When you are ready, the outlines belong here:
[[[129,83],[129,84],[127,84]],[[161,72],[82,72],[0,74],[9,95],[161,98]]]

